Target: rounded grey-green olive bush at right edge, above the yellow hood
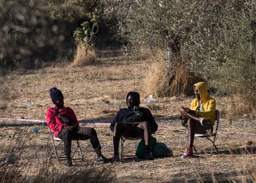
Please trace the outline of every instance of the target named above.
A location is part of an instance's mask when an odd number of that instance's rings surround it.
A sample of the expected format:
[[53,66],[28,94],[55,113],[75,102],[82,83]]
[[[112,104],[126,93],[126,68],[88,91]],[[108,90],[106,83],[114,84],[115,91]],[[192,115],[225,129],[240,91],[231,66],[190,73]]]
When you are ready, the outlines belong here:
[[256,2],[219,1],[205,12],[182,47],[190,70],[255,106]]

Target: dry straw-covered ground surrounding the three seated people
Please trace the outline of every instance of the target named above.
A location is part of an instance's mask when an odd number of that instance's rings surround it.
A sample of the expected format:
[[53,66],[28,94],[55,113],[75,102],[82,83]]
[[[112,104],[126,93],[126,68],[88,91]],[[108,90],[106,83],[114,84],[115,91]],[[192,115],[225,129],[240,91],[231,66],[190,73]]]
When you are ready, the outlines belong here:
[[[154,161],[125,158],[114,163],[115,182],[256,182],[256,136],[251,135],[256,133],[256,120],[244,115],[233,118],[231,125],[227,124],[224,114],[231,109],[229,97],[213,96],[217,109],[222,112],[216,138],[219,153],[214,151],[210,156],[210,142],[196,138],[194,145],[199,154],[182,159],[180,156],[187,147],[188,138],[186,132],[175,131],[185,130],[178,120],[178,109],[182,105],[189,106],[192,98],[166,97],[144,103],[143,83],[146,82],[148,61],[124,57],[119,52],[115,55],[107,51],[102,53],[101,65],[82,68],[56,65],[35,71],[18,70],[1,78],[0,118],[45,119],[47,109],[53,105],[48,90],[56,86],[65,97],[65,106],[75,111],[80,122],[110,123],[119,108],[125,107],[128,91],[138,91],[141,106],[148,107],[158,123],[158,131],[153,136],[173,150],[173,157]],[[32,132],[35,127],[39,129],[37,133]],[[91,127],[97,131],[103,154],[110,157],[113,144],[109,126]],[[25,144],[19,149],[20,139]],[[138,142],[127,141],[125,153],[134,154]],[[74,161],[75,166],[70,168],[65,167],[64,162],[58,164],[53,160],[50,166],[68,172],[94,161],[96,155],[89,141],[81,141],[81,147],[85,162]],[[20,160],[27,162],[23,166],[24,174],[34,176],[52,150],[46,124],[0,120],[0,163],[10,156],[10,150],[20,152]],[[94,166],[108,168],[113,165],[95,163]]]

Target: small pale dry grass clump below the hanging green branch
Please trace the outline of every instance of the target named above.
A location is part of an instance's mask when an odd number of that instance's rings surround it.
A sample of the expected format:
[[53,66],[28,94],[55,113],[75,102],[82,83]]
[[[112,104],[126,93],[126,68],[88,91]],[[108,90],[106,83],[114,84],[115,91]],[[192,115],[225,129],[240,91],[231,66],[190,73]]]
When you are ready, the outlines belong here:
[[79,43],[76,47],[76,53],[72,66],[86,66],[95,65],[97,62],[97,56],[92,46],[83,46]]

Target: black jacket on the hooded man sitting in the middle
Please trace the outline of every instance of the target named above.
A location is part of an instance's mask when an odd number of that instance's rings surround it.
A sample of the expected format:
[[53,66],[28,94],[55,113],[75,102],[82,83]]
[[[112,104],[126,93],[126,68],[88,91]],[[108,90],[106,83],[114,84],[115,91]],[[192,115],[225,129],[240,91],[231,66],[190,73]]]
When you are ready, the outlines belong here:
[[[155,133],[157,131],[158,125],[156,124],[155,119],[152,116],[152,114],[149,111],[149,109],[144,108],[144,107],[140,107],[139,111],[142,112],[142,117],[141,117],[141,119],[138,122],[148,121],[148,123],[150,124],[150,128],[151,128],[151,134]],[[120,109],[116,113],[115,119],[110,124],[110,130],[112,132],[114,132],[115,123],[123,122],[123,119],[126,119],[126,118],[128,118],[128,117],[130,117],[132,115],[134,115],[132,109],[127,109],[127,108]]]

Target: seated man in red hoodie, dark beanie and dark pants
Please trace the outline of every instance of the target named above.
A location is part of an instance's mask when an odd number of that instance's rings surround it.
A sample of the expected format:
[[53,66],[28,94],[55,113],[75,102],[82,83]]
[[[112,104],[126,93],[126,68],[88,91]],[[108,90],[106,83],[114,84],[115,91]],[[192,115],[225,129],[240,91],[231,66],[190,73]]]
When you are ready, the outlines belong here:
[[101,145],[97,133],[93,128],[80,127],[74,111],[70,107],[64,107],[64,97],[60,90],[53,87],[50,89],[50,97],[54,107],[50,107],[46,112],[48,127],[54,132],[54,136],[64,141],[64,152],[67,157],[67,166],[72,166],[71,161],[71,141],[90,139],[97,154],[97,162],[106,158],[101,154]]

